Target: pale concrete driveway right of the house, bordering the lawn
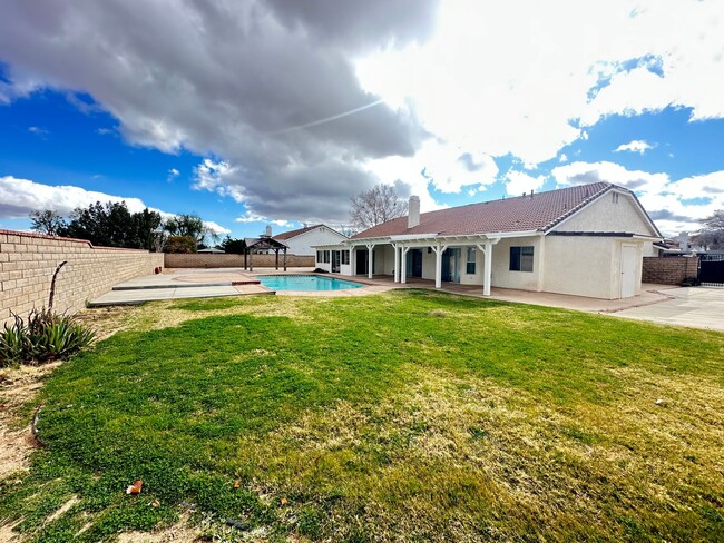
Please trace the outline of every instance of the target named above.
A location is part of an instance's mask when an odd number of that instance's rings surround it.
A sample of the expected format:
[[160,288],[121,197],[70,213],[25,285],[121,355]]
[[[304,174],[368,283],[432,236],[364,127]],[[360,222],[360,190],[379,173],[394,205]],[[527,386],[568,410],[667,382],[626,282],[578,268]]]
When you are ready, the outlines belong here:
[[724,288],[659,287],[658,292],[669,299],[612,315],[724,332]]

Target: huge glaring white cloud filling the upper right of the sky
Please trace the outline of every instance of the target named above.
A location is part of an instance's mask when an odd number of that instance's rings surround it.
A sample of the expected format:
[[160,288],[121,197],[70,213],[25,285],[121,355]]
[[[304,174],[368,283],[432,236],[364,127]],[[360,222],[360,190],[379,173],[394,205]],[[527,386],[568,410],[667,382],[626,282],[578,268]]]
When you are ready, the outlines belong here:
[[694,120],[724,118],[724,78],[712,77],[724,68],[724,2],[557,6],[443,3],[432,40],[370,56],[358,73],[390,103],[411,105],[438,138],[528,165],[614,113],[673,105],[693,108]]

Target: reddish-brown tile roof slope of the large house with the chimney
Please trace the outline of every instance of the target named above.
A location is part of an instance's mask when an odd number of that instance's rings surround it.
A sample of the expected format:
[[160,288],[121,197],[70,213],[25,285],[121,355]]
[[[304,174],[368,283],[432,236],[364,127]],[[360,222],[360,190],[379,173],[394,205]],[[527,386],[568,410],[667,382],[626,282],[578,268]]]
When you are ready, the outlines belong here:
[[[361,231],[352,239],[436,234],[464,236],[506,231],[548,230],[586,204],[615,187],[593,182],[577,187],[483,201],[420,214],[420,224],[408,228],[408,217],[399,217]],[[616,187],[620,188],[620,187]],[[624,189],[626,190],[626,189]]]

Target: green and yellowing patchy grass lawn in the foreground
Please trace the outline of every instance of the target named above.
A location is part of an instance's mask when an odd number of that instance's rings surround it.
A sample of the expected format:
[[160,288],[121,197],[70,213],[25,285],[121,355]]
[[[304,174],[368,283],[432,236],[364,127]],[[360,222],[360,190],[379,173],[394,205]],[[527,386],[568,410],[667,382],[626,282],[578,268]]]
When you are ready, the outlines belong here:
[[29,540],[184,510],[272,541],[724,539],[722,334],[415,290],[120,315],[0,483]]

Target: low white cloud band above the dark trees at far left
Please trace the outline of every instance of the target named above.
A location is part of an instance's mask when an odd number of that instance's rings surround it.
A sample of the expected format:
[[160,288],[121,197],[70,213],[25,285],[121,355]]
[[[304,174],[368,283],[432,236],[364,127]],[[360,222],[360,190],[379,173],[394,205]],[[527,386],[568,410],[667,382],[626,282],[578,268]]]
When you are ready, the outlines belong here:
[[[12,176],[0,177],[0,218],[28,218],[30,211],[43,209],[52,209],[67,217],[77,207],[88,207],[96,201],[125,201],[130,213],[139,213],[148,207],[140,198],[108,195],[72,185],[50,186]],[[175,216],[162,209],[149,209],[158,211],[164,219]],[[204,220],[204,225],[217,234],[231,233],[212,220]]]

